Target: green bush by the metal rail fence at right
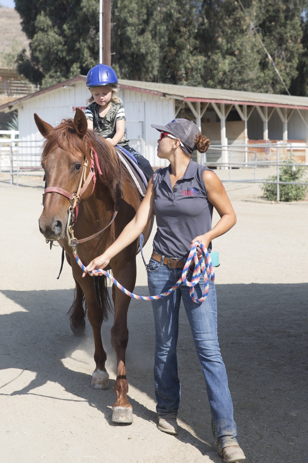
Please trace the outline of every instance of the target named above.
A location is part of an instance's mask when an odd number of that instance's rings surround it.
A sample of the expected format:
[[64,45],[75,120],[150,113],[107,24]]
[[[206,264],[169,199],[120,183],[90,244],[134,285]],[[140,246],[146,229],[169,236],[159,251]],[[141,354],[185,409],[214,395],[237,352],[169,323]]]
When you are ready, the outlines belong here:
[[[306,166],[295,166],[291,159],[285,161],[283,166],[279,167],[280,181],[298,181],[306,182]],[[277,181],[277,175],[270,175],[267,181]],[[275,183],[265,183],[262,185],[264,196],[270,201],[277,200],[277,185]],[[279,200],[280,201],[298,201],[305,197],[308,185],[279,185]]]

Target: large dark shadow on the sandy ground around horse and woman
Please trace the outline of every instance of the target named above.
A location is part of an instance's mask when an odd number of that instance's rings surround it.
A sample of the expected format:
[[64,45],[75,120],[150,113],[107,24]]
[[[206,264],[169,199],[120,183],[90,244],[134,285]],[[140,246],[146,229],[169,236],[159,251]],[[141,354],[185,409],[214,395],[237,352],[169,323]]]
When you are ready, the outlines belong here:
[[[147,288],[136,287],[134,292],[147,295]],[[72,302],[72,291],[2,291],[2,294],[27,310],[0,317],[2,368],[37,373],[28,386],[13,394],[34,394],[33,389],[47,381],[58,382],[75,395],[76,401],[87,400],[100,410],[114,426],[108,408],[115,400],[114,381],[108,391],[92,390],[88,387],[90,375],[68,369],[60,360],[74,357],[76,350],[85,350],[93,356],[88,321],[83,338],[74,337],[69,328],[66,311]],[[306,283],[217,285],[218,338],[240,443],[248,449],[247,461],[308,462],[304,444],[308,434],[307,294]],[[103,324],[102,333],[104,348],[115,367],[111,326],[112,315]],[[150,303],[132,300],[128,327],[128,382],[154,400],[154,328]],[[179,418],[190,426],[190,431],[181,430],[179,438],[206,455],[213,451],[207,444],[213,442],[211,416],[184,309],[180,317],[178,357]],[[151,409],[139,400],[131,397],[129,400],[135,415],[156,421]]]

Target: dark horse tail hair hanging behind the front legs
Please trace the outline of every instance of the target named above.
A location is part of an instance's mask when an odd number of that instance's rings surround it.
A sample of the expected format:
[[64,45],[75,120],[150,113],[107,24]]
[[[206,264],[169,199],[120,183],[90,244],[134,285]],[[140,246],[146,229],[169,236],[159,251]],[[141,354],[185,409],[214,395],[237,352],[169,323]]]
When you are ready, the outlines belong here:
[[[97,298],[98,305],[101,307],[103,311],[103,319],[107,320],[108,319],[108,312],[112,311],[112,305],[109,297],[109,292],[108,292],[108,286],[107,286],[107,278],[104,275],[98,275],[94,276],[94,286],[95,286],[95,295]],[[87,302],[85,300],[85,294],[83,293],[82,289],[79,286],[79,294],[81,293],[81,300],[79,299],[77,301],[77,291],[76,291],[76,286],[74,290],[74,300],[72,302],[71,307],[68,309],[67,313],[72,315],[74,312],[74,309],[76,307],[76,304],[82,304],[82,307],[84,308],[85,315],[87,313]]]

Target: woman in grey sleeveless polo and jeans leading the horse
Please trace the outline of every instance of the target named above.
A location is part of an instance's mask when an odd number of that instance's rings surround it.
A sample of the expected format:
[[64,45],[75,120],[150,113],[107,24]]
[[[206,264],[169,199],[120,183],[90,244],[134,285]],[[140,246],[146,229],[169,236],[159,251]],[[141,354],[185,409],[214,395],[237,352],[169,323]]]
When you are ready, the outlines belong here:
[[[169,166],[156,171],[136,216],[120,237],[101,256],[90,262],[84,275],[108,266],[119,252],[134,242],[155,213],[157,233],[147,266],[149,291],[154,296],[164,293],[179,280],[193,243],[199,241],[211,251],[211,241],[235,225],[236,214],[217,175],[191,159],[193,150],[205,152],[210,144],[198,127],[187,119],[174,119],[167,125],[152,127],[160,132],[157,156],[169,161]],[[212,227],[213,207],[220,219]],[[194,290],[200,298],[204,294],[205,283],[200,279]],[[218,345],[216,291],[211,280],[208,295],[203,301],[193,301],[184,283],[168,297],[152,300],[156,341],[154,381],[157,427],[163,432],[178,433],[176,417],[181,386],[176,345],[181,299],[205,377],[218,453],[224,463],[242,461],[245,455],[236,440],[233,405]]]

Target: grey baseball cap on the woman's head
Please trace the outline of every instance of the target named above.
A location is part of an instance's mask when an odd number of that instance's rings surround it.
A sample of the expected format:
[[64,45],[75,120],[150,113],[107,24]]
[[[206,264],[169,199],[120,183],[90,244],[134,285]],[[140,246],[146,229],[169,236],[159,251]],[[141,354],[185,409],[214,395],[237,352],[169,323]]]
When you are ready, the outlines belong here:
[[151,124],[151,127],[160,132],[167,132],[176,138],[180,138],[184,145],[182,148],[187,154],[192,154],[195,149],[194,139],[200,133],[197,125],[192,120],[187,119],[173,119],[166,125]]

